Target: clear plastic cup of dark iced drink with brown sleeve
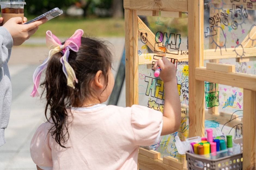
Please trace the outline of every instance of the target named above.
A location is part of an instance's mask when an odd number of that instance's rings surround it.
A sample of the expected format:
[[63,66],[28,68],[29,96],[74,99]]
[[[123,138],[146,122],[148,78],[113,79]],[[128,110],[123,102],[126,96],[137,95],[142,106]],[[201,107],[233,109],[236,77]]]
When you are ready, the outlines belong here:
[[13,17],[24,17],[25,0],[0,0],[3,24]]

